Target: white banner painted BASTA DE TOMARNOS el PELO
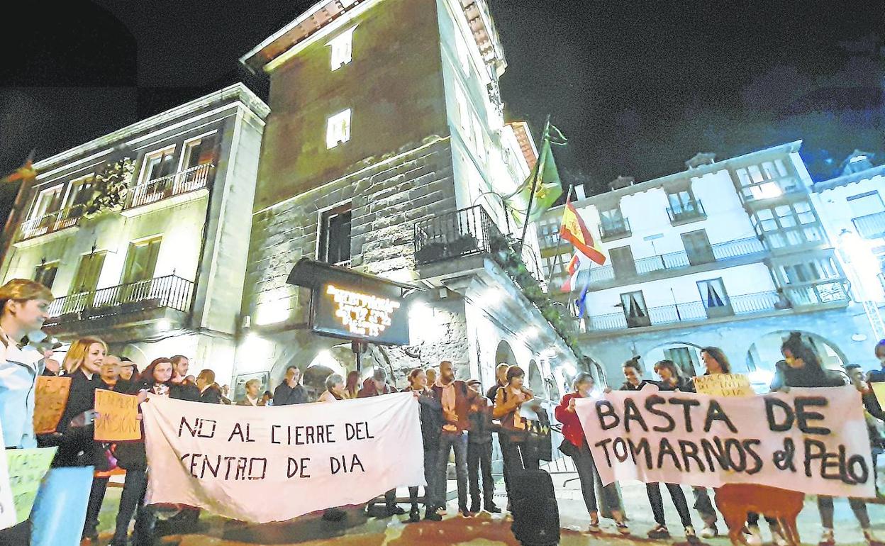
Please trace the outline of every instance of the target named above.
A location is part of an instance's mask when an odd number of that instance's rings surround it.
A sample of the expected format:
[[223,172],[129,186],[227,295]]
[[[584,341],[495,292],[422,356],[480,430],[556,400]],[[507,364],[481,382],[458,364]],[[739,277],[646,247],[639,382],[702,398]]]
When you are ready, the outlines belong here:
[[874,496],[860,394],[852,387],[706,396],[613,391],[575,411],[604,484],[755,483],[829,496]]

